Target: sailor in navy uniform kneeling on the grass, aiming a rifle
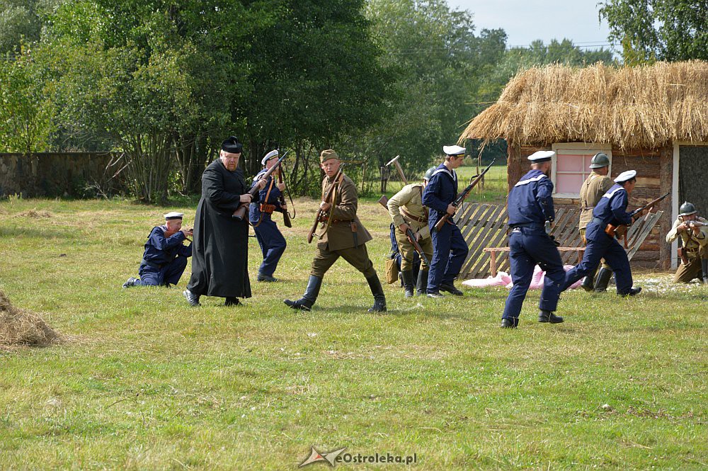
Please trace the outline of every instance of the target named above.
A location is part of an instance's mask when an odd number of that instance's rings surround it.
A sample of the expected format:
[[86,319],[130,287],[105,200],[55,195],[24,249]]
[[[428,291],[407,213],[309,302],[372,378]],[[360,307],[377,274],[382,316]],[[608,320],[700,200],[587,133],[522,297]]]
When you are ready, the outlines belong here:
[[183,244],[187,236],[192,235],[189,230],[182,229],[183,217],[181,212],[168,212],[165,225],[153,227],[145,242],[138,272],[140,278],[128,278],[123,288],[169,286],[179,282],[187,267],[187,258],[192,256],[192,244]]

